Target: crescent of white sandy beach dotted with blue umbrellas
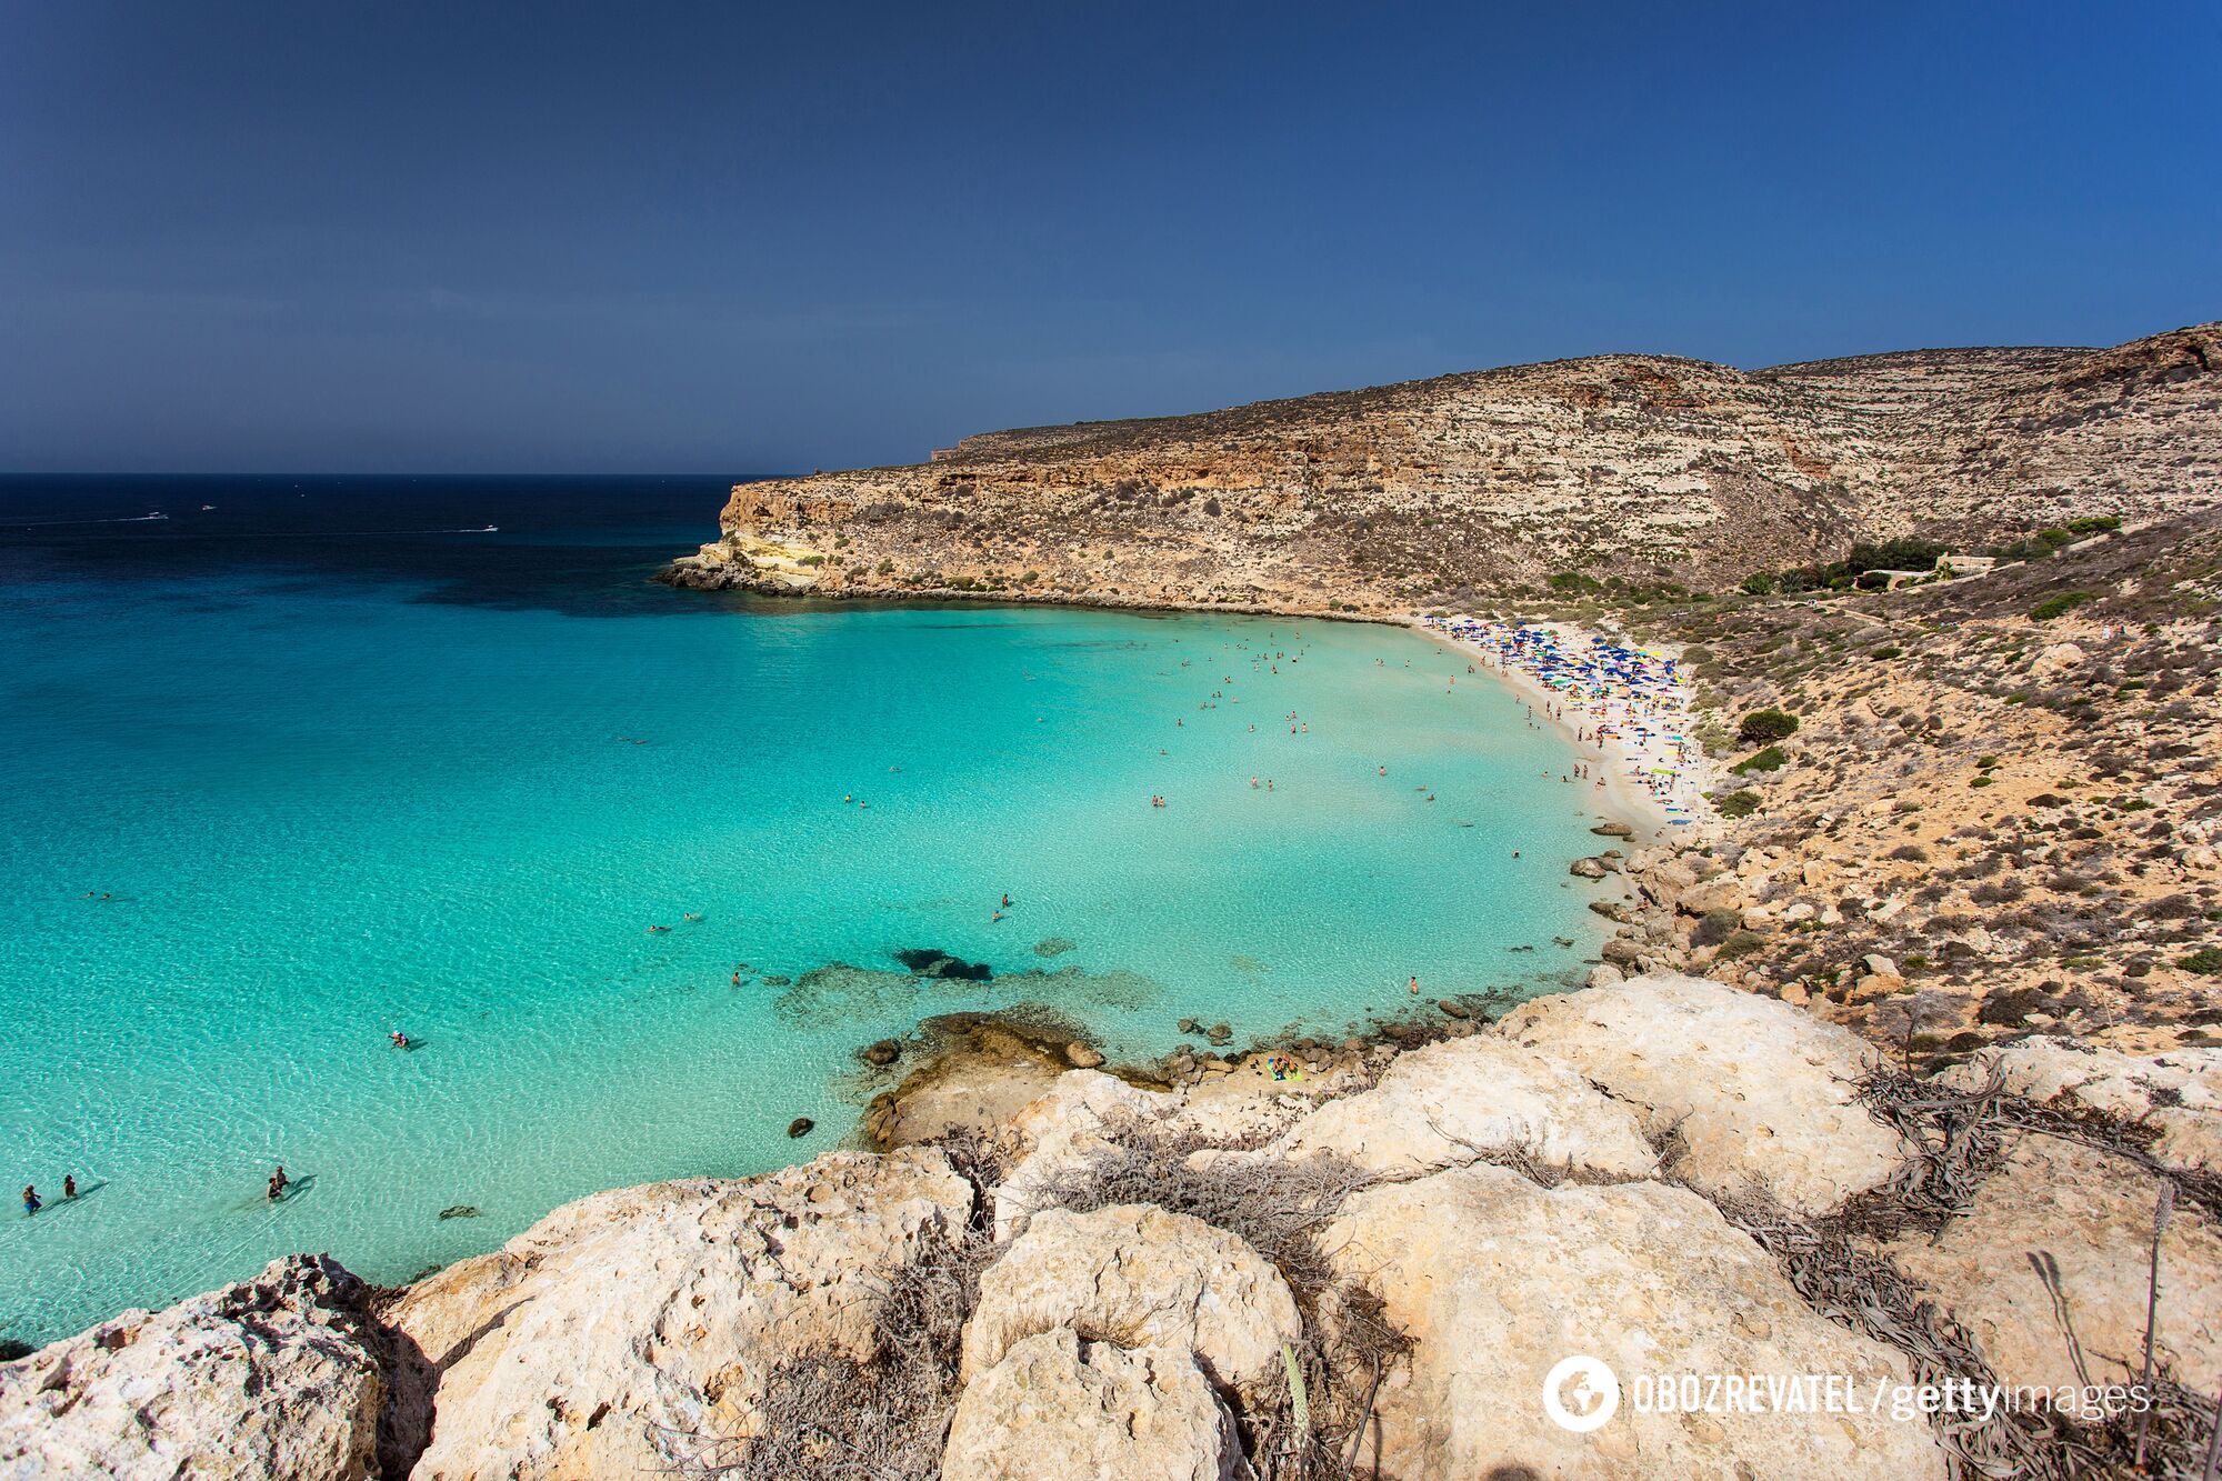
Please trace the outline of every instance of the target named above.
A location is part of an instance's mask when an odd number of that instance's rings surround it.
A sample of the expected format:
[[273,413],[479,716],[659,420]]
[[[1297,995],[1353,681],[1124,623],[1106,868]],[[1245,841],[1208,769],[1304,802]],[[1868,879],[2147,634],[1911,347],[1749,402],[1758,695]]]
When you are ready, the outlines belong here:
[[[1593,761],[1604,787],[1589,785],[1589,805],[1600,816],[1627,823],[1644,841],[1711,832],[1715,818],[1704,801],[1711,765],[1693,734],[1689,687],[1666,665],[1673,654],[1624,649],[1615,638],[1573,623],[1413,616],[1409,625],[1473,658],[1484,674],[1531,705],[1540,723],[1558,727],[1569,745]],[[1518,640],[1522,629],[1529,643]],[[1589,656],[1598,645],[1613,654],[1642,652],[1651,660],[1633,676],[1584,674],[1575,694],[1562,665],[1542,658],[1544,652],[1558,660]],[[1602,740],[1600,727],[1607,732]]]

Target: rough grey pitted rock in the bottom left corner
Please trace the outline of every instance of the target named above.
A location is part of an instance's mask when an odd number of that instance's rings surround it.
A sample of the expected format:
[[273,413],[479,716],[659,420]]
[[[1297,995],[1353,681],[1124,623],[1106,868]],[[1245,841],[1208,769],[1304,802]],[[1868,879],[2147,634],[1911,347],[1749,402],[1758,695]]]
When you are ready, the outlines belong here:
[[296,1254],[4,1363],[0,1474],[373,1477],[387,1343],[367,1303],[329,1256]]

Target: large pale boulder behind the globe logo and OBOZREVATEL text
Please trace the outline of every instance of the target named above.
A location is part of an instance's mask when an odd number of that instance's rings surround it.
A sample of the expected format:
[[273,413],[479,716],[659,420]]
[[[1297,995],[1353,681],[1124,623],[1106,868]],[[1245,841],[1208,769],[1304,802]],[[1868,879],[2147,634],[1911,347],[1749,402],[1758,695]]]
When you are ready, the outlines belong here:
[[[1573,1354],[1638,1374],[1858,1374],[1904,1359],[1818,1316],[1698,1194],[1662,1183],[1540,1187],[1460,1167],[1358,1194],[1329,1230],[1338,1265],[1413,1339],[1378,1399],[1384,1477],[1942,1477],[1920,1419],[1620,1414],[1591,1434],[1542,1408]],[[1375,1445],[1375,1441],[1369,1441]]]

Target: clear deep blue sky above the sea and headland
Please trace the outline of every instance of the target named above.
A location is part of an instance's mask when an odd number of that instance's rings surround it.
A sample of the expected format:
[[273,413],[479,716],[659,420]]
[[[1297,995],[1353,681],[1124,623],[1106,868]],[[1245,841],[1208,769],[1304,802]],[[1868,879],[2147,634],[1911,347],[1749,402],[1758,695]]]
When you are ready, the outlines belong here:
[[789,471],[2222,316],[2222,4],[0,0],[0,469]]

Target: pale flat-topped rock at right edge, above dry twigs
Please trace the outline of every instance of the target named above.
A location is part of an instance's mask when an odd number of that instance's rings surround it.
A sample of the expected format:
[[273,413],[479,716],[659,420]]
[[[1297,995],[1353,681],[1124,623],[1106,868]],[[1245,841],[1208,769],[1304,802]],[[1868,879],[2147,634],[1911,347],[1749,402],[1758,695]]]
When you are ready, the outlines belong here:
[[[2071,1112],[2100,1112],[2160,1132],[2153,1156],[2171,1167],[2222,1172],[2222,1050],[2120,1054],[2060,1038],[2022,1038],[1995,1056],[2004,1087]],[[1953,1072],[1980,1083],[1986,1063]]]

